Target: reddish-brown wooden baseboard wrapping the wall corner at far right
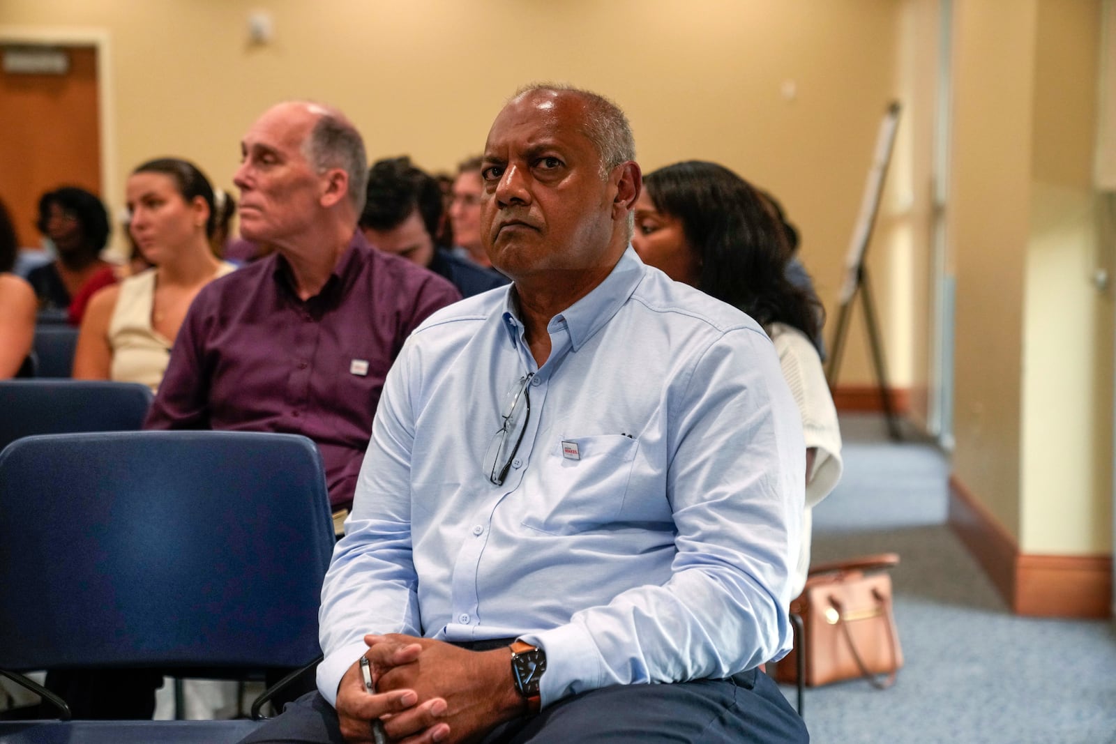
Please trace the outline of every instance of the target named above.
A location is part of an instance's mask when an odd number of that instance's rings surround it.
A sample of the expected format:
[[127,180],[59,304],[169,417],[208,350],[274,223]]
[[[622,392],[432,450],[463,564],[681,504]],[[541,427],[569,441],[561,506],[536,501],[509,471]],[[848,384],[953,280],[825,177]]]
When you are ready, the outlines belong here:
[[1113,612],[1110,555],[1036,555],[1019,543],[956,476],[950,476],[950,526],[1017,615],[1107,618]]

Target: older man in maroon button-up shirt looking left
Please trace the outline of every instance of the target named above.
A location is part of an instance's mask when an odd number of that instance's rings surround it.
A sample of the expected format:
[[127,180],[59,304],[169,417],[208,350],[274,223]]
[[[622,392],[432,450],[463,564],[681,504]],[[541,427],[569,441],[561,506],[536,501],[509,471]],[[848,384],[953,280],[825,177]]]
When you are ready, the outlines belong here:
[[353,501],[404,339],[461,296],[356,229],[367,160],[340,112],[279,104],[241,153],[240,234],[275,253],[198,294],[145,426],[305,434],[321,451],[337,510]]

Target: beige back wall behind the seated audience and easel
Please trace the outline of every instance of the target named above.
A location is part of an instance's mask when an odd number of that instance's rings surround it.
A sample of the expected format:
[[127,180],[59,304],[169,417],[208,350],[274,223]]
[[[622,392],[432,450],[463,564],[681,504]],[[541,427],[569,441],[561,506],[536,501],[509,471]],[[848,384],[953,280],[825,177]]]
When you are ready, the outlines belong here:
[[[519,85],[557,79],[597,89],[628,112],[645,168],[715,160],[775,193],[800,229],[802,258],[833,316],[876,128],[899,90],[903,6],[3,0],[0,38],[4,29],[106,33],[114,207],[127,171],[158,154],[191,157],[231,187],[240,135],[285,97],[341,107],[363,131],[369,157],[408,153],[427,168],[451,168],[481,149],[492,117]],[[249,44],[254,9],[273,17],[270,45]],[[783,96],[787,83],[792,98]],[[911,209],[907,196],[891,195],[911,194],[910,185],[889,178],[888,187],[884,221]],[[889,250],[877,240],[868,252],[884,308],[892,297]],[[882,312],[901,385],[912,375],[910,351],[893,347],[908,346],[910,315],[896,322]],[[841,380],[870,381],[857,340],[863,317],[854,320]]]

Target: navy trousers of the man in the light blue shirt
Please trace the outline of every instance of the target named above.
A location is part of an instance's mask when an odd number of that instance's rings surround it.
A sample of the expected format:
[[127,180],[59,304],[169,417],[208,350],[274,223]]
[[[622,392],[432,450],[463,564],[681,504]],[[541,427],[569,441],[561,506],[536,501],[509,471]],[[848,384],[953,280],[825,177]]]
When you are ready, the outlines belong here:
[[[806,724],[758,669],[729,679],[617,685],[573,695],[538,715],[500,724],[482,744],[809,742]],[[243,740],[250,744],[341,744],[337,713],[319,693],[288,705]]]

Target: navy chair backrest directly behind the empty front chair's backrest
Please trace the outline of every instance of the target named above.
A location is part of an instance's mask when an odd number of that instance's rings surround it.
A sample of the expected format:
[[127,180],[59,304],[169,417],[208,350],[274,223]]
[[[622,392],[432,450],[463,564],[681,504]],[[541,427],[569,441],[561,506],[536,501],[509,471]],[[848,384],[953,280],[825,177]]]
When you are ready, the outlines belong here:
[[136,431],[153,398],[138,383],[0,380],[0,450],[32,434]]

